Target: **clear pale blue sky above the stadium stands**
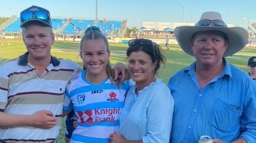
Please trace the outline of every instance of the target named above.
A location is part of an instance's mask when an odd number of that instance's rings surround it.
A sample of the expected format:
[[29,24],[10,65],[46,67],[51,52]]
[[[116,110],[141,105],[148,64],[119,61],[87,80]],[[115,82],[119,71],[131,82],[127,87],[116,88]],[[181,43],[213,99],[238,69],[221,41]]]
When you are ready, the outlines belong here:
[[[96,17],[96,0],[5,0],[0,17],[19,16],[32,5],[49,10],[51,17]],[[97,17],[141,28],[143,21],[196,23],[203,12],[216,11],[227,24],[247,29],[249,21],[256,21],[255,7],[256,0],[97,0]]]

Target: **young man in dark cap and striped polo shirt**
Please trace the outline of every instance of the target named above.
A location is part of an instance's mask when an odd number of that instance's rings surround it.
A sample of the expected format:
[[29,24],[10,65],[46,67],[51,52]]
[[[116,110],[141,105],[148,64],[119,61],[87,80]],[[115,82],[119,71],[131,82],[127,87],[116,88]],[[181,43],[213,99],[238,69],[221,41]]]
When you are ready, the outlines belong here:
[[56,142],[65,87],[81,68],[51,56],[48,10],[31,6],[20,21],[27,52],[0,66],[0,142]]

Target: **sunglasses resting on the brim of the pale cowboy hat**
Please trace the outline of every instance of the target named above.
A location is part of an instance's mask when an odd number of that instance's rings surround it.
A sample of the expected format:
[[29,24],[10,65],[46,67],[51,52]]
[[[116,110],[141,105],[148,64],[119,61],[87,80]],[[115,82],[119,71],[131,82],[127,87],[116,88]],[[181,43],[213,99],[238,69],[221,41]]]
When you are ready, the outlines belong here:
[[222,20],[199,20],[195,26],[220,26],[220,27],[228,27],[226,23]]

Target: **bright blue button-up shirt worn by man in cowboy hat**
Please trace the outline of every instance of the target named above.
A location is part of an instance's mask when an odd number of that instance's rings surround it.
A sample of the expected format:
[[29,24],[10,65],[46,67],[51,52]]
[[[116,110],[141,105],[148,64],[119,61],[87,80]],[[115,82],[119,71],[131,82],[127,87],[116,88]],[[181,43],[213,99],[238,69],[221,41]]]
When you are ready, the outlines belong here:
[[256,86],[249,75],[226,62],[225,69],[204,88],[196,63],[168,82],[175,101],[170,142],[198,142],[200,136],[231,142],[256,142]]

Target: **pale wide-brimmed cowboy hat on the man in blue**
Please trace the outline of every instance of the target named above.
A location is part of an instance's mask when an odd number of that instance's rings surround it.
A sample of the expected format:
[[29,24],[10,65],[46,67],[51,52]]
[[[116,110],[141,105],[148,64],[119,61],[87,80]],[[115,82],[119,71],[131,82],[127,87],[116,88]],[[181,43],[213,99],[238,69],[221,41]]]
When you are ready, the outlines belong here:
[[223,56],[233,55],[248,44],[247,30],[241,27],[228,28],[218,12],[204,12],[195,26],[178,26],[174,29],[174,35],[182,50],[194,56],[191,50],[191,37],[199,31],[209,30],[221,31],[228,37],[229,45]]

